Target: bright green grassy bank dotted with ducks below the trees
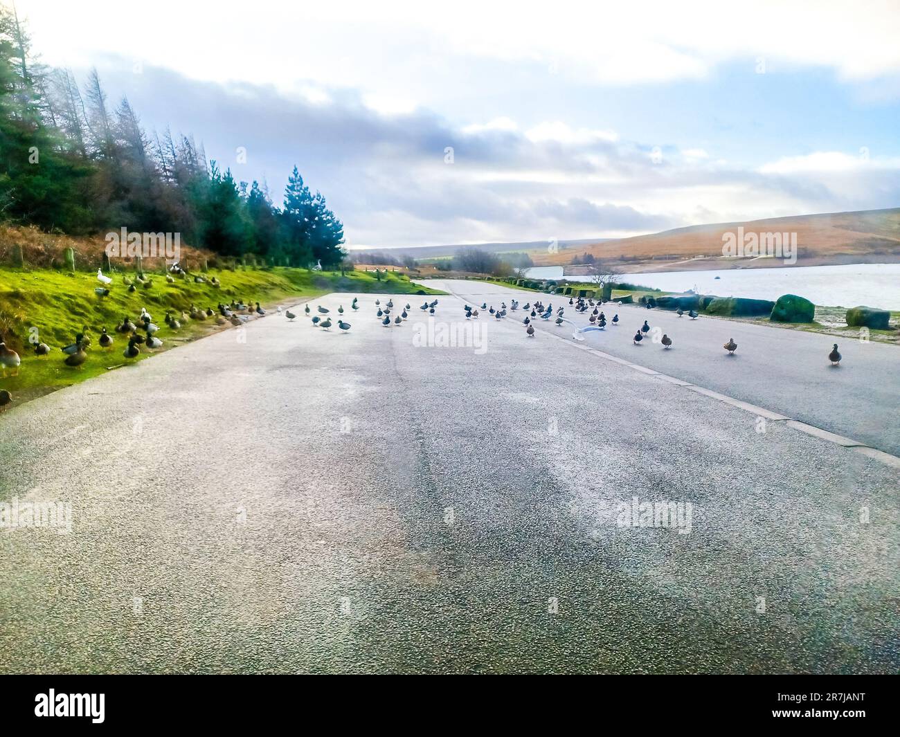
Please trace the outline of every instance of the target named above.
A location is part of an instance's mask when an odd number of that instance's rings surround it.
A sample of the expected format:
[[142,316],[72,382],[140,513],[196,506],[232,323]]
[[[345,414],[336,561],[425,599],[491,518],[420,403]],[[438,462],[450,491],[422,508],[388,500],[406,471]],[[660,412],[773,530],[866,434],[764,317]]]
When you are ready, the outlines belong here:
[[[231,328],[230,325],[217,326],[215,318],[207,318],[184,320],[182,328],[174,331],[166,326],[166,310],[174,310],[181,320],[181,313],[190,312],[192,304],[198,309],[216,310],[220,302],[255,304],[259,301],[264,308],[274,310],[279,304],[293,304],[329,292],[443,293],[410,283],[409,278],[402,274],[391,273],[382,274],[382,278],[377,279],[374,274],[365,272],[341,275],[337,272],[281,267],[246,271],[238,268],[233,272],[211,270],[201,274],[206,283],[194,283],[193,275],[187,279],[176,277],[175,283],[167,283],[166,275],[162,273],[146,275],[152,280],[151,286],[138,286],[136,292],[128,292],[123,278],[127,276],[133,281],[134,272],[112,274],[109,296],[100,297],[94,289],[103,285],[97,281],[95,273],[0,269],[0,333],[6,345],[22,357],[17,376],[7,373],[5,378],[0,377],[0,389],[13,394],[13,406],[121,365],[145,360],[212,332]],[[209,282],[212,276],[220,281],[219,287]],[[157,337],[162,339],[163,347],[150,352],[142,346],[142,353],[137,359],[125,359],[122,352],[127,341],[115,333],[114,328],[125,315],[136,322],[141,307],[153,315],[154,322],[159,326]],[[70,368],[63,363],[65,356],[59,349],[74,342],[76,333],[85,327],[92,341],[87,351],[88,359],[81,368]],[[114,338],[112,348],[107,350],[99,345],[103,328]],[[34,355],[29,336],[35,329],[40,342],[50,346],[49,355]]]

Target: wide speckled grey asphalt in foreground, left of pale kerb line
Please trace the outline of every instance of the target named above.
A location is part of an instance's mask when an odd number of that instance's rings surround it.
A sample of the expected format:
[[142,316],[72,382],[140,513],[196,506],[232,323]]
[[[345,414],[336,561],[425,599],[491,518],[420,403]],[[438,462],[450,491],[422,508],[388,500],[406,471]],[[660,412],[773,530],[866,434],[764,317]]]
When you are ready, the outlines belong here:
[[[0,670],[896,672],[896,469],[513,319],[422,345],[422,298],[399,328],[374,299],[0,415],[0,500],[72,508],[0,530]],[[689,534],[619,524],[635,497]]]

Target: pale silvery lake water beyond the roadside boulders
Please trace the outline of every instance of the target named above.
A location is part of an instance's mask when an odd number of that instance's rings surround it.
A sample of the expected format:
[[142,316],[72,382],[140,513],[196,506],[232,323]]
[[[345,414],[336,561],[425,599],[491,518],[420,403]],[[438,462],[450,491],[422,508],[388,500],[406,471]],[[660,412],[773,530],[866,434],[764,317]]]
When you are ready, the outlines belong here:
[[[556,271],[552,275],[545,275],[545,269]],[[529,269],[528,274],[529,278],[535,279],[559,279],[559,269],[559,266],[536,267]],[[590,276],[565,278],[570,282],[590,282]],[[700,294],[749,297],[756,300],[777,300],[782,294],[799,294],[815,304],[828,307],[865,304],[882,310],[900,310],[900,264],[623,274],[622,281],[666,292],[687,292],[692,289]]]

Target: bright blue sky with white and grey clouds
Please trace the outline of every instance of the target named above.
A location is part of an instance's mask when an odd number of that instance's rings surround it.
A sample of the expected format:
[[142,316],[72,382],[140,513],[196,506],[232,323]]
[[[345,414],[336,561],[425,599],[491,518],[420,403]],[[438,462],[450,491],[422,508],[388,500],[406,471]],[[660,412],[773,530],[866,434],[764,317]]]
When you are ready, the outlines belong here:
[[349,247],[900,206],[900,0],[16,7],[149,131],[275,202],[298,166]]

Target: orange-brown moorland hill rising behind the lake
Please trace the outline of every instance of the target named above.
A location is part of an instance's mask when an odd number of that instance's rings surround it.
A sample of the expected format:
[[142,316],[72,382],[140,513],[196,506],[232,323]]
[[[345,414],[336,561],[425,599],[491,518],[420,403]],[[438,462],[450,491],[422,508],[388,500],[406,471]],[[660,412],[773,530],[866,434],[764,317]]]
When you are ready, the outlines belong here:
[[[900,208],[696,225],[652,235],[597,240],[580,247],[578,254],[589,253],[626,273],[786,265],[772,258],[725,258],[723,234],[739,227],[745,233],[797,233],[799,266],[900,261]],[[557,253],[536,249],[530,255],[535,265],[568,265],[575,254],[571,249]],[[566,273],[580,270],[572,267]]]

